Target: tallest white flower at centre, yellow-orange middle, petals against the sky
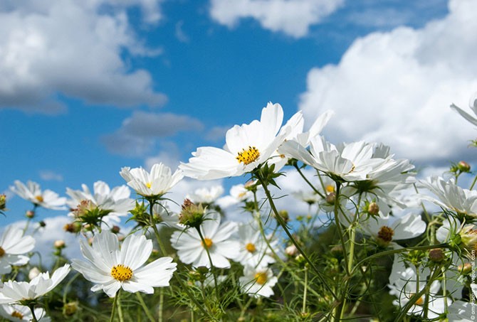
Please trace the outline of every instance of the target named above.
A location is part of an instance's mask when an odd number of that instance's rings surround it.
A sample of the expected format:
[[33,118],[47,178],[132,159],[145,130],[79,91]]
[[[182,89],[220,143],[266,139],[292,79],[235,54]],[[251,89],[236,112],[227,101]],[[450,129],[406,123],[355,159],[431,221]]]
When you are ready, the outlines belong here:
[[268,103],[262,109],[260,121],[236,125],[227,131],[224,149],[201,147],[192,153],[189,163],[181,163],[179,168],[185,176],[199,180],[248,173],[268,161],[291,131],[287,127],[277,136],[282,122],[281,105]]

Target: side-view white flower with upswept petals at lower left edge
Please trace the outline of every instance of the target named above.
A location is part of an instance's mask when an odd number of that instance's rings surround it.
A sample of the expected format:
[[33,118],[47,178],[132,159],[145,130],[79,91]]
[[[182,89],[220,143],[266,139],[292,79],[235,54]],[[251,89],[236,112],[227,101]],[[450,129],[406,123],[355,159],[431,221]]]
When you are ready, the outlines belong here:
[[29,282],[6,281],[0,288],[0,304],[13,304],[33,300],[54,289],[70,272],[70,264],[56,269],[50,277],[48,272],[38,274]]

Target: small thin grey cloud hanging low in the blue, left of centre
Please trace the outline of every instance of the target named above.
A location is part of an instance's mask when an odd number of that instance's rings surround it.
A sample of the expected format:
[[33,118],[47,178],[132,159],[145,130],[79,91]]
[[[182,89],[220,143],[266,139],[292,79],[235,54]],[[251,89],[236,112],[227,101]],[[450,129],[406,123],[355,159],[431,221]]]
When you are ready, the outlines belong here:
[[174,113],[134,112],[115,133],[102,137],[108,151],[124,156],[147,154],[158,138],[178,132],[201,131],[204,125],[188,115]]

